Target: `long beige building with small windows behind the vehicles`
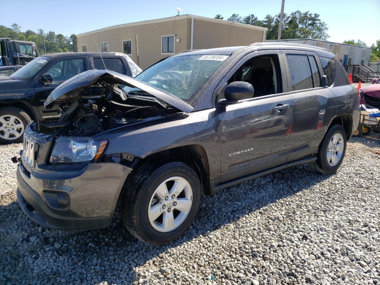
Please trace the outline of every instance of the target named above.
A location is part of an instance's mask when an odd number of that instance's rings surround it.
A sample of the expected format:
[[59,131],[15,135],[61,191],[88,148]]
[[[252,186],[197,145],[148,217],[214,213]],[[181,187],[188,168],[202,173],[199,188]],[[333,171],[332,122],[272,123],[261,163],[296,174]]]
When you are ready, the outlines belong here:
[[78,51],[123,52],[145,69],[189,49],[264,42],[267,28],[190,14],[115,25],[78,35]]

